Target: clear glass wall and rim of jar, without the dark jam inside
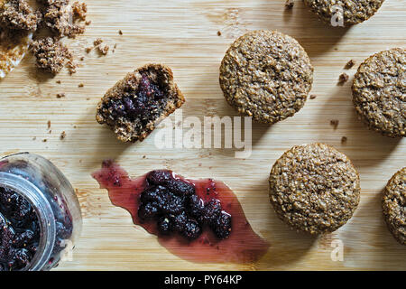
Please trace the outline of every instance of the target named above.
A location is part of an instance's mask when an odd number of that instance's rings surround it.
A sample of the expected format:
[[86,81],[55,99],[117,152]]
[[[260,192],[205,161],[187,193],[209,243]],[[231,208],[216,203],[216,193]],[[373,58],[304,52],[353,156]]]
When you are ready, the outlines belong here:
[[71,184],[53,163],[36,154],[5,156],[0,159],[0,188],[28,200],[38,219],[35,253],[23,270],[50,270],[61,257],[70,256],[82,227],[80,207]]

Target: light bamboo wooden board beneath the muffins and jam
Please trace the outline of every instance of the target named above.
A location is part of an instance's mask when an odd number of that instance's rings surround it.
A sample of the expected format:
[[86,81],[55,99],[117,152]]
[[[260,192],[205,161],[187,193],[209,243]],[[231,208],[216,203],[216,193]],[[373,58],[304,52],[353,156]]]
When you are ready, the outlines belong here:
[[[352,80],[358,64],[374,52],[405,47],[406,1],[386,0],[372,19],[350,29],[324,26],[301,1],[286,12],[284,2],[88,0],[92,24],[71,44],[78,55],[85,55],[78,73],[70,77],[62,71],[48,79],[36,72],[32,57],[27,57],[0,81],[1,153],[42,154],[78,190],[83,232],[73,261],[61,264],[60,270],[406,269],[406,247],[397,244],[385,228],[380,206],[386,182],[405,166],[406,140],[366,129],[355,117],[351,81],[337,86],[342,72]],[[149,61],[171,66],[187,98],[184,117],[236,116],[219,88],[218,67],[235,37],[255,29],[277,29],[298,39],[315,66],[311,93],[318,97],[309,99],[295,117],[274,126],[254,124],[250,158],[235,159],[233,149],[159,150],[153,144],[157,132],[142,144],[120,144],[106,127],[97,125],[95,107],[106,89]],[[217,36],[217,31],[222,35]],[[117,43],[115,53],[87,55],[85,48],[97,37],[111,46]],[[350,59],[356,61],[355,68],[344,70]],[[61,84],[56,83],[58,79]],[[80,82],[84,88],[78,88]],[[66,98],[56,98],[60,92]],[[331,119],[339,120],[337,130],[330,126]],[[67,135],[63,141],[62,131]],[[344,135],[348,141],[341,144]],[[318,239],[281,223],[267,191],[268,173],[276,159],[295,144],[312,142],[332,144],[347,154],[360,172],[362,186],[354,218]],[[98,189],[90,173],[106,158],[116,159],[133,176],[168,168],[189,178],[214,177],[226,182],[254,230],[270,241],[269,252],[258,263],[246,266],[194,264],[171,255],[155,237],[135,227],[125,210],[115,208],[105,190]],[[333,239],[344,243],[343,262],[331,260]]]

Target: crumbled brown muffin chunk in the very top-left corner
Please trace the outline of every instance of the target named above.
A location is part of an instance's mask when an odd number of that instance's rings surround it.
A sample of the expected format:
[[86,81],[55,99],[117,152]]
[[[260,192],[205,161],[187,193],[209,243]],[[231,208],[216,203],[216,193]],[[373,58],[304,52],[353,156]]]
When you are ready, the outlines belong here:
[[12,30],[36,31],[42,19],[25,0],[7,0],[0,3],[0,23]]

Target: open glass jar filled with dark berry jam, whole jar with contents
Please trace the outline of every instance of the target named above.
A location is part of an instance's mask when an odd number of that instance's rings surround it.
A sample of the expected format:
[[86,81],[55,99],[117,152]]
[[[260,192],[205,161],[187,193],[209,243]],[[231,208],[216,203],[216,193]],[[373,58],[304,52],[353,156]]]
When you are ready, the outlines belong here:
[[0,159],[0,271],[50,270],[71,256],[82,218],[68,179],[36,154]]

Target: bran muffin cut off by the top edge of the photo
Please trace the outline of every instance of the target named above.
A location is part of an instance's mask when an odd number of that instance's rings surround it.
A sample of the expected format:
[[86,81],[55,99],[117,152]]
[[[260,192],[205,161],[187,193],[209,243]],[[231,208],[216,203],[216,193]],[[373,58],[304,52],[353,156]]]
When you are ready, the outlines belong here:
[[337,6],[342,8],[344,25],[362,23],[371,18],[383,5],[384,0],[304,0],[310,10],[318,14],[323,22],[331,24],[337,14]]

